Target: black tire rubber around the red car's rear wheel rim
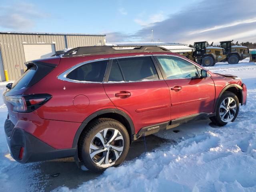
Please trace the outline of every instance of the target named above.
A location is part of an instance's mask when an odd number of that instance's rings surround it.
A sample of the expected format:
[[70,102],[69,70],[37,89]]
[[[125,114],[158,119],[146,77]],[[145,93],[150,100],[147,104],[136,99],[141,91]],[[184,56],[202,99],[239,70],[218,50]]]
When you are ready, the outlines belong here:
[[106,118],[98,120],[98,121],[96,120],[96,122],[94,122],[92,124],[92,127],[90,128],[90,130],[88,130],[88,132],[86,132],[86,136],[82,139],[82,141],[80,142],[80,146],[79,146],[80,147],[80,150],[79,150],[80,151],[80,154],[79,154],[80,161],[84,164],[84,166],[86,166],[86,168],[88,168],[92,172],[103,172],[104,170],[106,170],[106,168],[97,166],[93,162],[93,160],[90,158],[90,142],[92,141],[92,139],[98,132],[100,132],[101,130],[103,130],[105,128],[117,129],[122,134],[123,139],[124,139],[124,148],[123,148],[122,154],[120,155],[118,160],[116,160],[116,162],[113,166],[120,165],[126,158],[126,155],[129,150],[129,146],[130,146],[129,134],[122,123],[120,123],[114,119],[106,119]]

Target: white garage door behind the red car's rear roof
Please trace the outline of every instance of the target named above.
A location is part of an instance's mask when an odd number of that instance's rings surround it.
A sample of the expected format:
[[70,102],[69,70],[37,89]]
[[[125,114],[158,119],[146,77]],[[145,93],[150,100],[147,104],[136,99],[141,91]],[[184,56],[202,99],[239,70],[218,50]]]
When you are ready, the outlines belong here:
[[55,54],[55,44],[23,44],[26,62]]

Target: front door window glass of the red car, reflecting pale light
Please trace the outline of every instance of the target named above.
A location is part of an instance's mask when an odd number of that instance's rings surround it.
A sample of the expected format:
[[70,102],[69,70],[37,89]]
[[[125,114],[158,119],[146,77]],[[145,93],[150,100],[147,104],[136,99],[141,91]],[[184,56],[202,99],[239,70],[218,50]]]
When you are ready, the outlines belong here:
[[157,56],[167,79],[200,77],[198,70],[192,63],[177,57]]

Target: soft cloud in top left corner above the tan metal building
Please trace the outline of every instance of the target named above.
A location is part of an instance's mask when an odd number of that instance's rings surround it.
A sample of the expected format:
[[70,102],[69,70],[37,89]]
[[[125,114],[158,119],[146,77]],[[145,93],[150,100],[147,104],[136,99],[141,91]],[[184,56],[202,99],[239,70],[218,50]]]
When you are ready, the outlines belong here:
[[8,30],[33,28],[36,19],[49,16],[38,11],[34,4],[27,3],[0,6],[0,10],[0,28]]

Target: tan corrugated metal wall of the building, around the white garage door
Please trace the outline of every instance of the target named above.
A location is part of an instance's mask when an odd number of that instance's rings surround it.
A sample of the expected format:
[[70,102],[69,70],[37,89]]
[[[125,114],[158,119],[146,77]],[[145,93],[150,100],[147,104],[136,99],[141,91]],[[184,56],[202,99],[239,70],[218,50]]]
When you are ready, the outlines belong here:
[[[68,48],[105,44],[105,36],[66,35]],[[0,33],[0,48],[4,69],[8,70],[10,80],[18,79],[26,66],[22,43],[55,43],[56,51],[65,48],[64,35],[45,34],[5,34]]]

